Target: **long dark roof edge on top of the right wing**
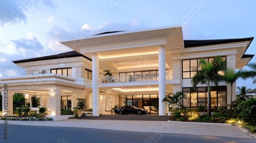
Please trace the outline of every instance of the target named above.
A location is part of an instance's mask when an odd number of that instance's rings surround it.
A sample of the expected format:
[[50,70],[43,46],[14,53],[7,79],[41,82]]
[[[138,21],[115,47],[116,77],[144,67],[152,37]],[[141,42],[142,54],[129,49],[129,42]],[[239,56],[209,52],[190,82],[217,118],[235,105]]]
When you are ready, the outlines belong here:
[[254,37],[238,39],[214,39],[214,40],[184,40],[184,47],[224,44],[233,42],[252,41]]

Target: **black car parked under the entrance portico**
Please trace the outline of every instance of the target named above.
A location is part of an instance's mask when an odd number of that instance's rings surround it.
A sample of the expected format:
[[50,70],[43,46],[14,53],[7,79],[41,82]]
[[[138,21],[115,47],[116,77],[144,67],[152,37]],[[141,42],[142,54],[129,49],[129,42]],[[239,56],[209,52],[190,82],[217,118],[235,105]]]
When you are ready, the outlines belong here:
[[135,106],[131,106],[131,105],[126,105],[126,106],[122,106],[118,109],[114,110],[115,113],[121,115],[121,114],[145,114],[147,113],[146,109],[143,108],[137,108]]

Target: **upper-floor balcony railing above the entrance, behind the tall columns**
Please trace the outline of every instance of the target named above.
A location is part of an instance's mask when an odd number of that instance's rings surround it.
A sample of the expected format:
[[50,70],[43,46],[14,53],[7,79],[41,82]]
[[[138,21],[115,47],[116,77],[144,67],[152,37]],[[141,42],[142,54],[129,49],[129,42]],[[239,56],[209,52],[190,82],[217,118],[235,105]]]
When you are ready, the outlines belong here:
[[[168,73],[166,73],[166,79]],[[102,76],[99,77],[101,83],[113,82],[133,82],[133,81],[154,81],[159,80],[159,74],[133,74],[133,75],[119,75],[119,76]]]

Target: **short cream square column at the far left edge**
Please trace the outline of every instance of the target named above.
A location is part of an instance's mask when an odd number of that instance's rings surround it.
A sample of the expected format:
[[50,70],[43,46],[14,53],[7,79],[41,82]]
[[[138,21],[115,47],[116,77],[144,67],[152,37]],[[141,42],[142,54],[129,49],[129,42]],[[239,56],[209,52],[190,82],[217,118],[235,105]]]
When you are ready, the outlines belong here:
[[9,89],[5,89],[2,87],[2,115],[13,115],[13,95],[14,91],[10,91]]

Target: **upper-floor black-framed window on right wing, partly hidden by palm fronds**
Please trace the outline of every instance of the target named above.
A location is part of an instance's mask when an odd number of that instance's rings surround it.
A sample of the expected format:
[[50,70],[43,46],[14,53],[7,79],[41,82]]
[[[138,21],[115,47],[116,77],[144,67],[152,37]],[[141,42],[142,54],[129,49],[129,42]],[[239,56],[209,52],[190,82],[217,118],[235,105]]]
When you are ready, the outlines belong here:
[[[226,57],[222,57],[226,60]],[[204,58],[206,62],[211,62],[214,58]],[[189,79],[193,78],[197,70],[201,70],[198,62],[200,59],[189,59],[189,60],[182,60],[182,79]],[[223,73],[219,73],[223,74]]]

